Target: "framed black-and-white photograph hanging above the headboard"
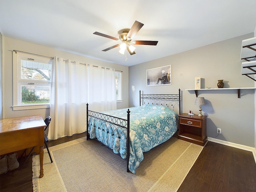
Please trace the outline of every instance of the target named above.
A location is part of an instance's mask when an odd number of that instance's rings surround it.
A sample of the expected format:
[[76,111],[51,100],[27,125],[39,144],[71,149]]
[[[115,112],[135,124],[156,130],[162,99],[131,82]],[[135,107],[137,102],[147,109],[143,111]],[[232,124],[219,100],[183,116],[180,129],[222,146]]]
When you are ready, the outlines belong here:
[[171,65],[148,69],[147,86],[171,85]]

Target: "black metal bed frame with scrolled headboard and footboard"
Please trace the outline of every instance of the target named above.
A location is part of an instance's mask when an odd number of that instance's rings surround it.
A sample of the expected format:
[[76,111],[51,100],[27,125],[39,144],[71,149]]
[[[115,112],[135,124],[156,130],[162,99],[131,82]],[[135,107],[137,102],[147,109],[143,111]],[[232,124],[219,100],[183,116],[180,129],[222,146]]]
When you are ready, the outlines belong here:
[[[166,107],[172,107],[172,110],[174,110],[174,107],[178,105],[178,113],[181,113],[181,106],[180,106],[180,89],[179,89],[179,94],[141,94],[140,91],[140,106],[141,104],[153,104],[153,105],[162,105]],[[86,140],[90,139],[90,134],[88,132],[88,126],[90,122],[90,118],[94,118],[96,121],[99,122],[99,124],[104,124],[105,126],[99,126],[99,134],[100,130],[102,132],[102,135],[109,133],[109,128],[112,129],[114,126],[114,130],[117,130],[117,127],[122,128],[121,130],[126,130],[126,149],[127,149],[127,155],[126,155],[126,160],[127,160],[127,172],[130,172],[129,170],[129,158],[130,158],[130,110],[127,110],[127,119],[122,119],[110,115],[106,115],[100,112],[95,112],[88,110],[88,104],[86,104],[86,110],[87,110],[87,137]],[[107,130],[104,130],[104,127],[107,128]],[[112,136],[114,136],[114,130],[112,130]],[[104,137],[102,137],[104,138]],[[95,138],[98,140],[97,138]],[[104,144],[103,141],[98,140],[102,144]],[[114,138],[112,141],[112,146],[114,144]],[[105,144],[104,144],[105,145]],[[105,145],[106,146],[106,145]],[[108,147],[108,146],[107,146]]]

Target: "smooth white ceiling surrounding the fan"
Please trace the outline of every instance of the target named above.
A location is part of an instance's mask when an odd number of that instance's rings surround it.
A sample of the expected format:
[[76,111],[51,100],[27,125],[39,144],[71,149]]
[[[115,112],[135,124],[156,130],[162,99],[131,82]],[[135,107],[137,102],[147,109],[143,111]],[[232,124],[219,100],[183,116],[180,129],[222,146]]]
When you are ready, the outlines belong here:
[[[134,21],[144,26],[125,56],[118,44],[94,35],[118,38]],[[0,32],[16,38],[116,64],[132,66],[254,32],[256,0],[0,0]],[[242,43],[242,42],[241,42]]]

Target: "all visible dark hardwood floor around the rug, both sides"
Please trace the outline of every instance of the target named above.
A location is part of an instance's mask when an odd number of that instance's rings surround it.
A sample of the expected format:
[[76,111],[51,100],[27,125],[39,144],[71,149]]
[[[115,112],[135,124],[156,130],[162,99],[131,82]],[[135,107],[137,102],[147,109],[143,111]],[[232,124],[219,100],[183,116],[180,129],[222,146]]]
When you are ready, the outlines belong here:
[[[84,136],[86,134],[82,133],[52,140],[48,147]],[[33,191],[32,157],[21,170],[0,175],[0,191]],[[252,152],[208,142],[178,190],[192,191],[256,192],[256,164]]]

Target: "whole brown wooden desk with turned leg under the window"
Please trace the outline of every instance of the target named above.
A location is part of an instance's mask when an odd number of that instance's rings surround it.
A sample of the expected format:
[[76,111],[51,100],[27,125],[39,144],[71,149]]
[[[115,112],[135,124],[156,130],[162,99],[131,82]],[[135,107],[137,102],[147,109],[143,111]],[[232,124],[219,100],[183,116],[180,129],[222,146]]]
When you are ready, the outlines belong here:
[[42,116],[25,116],[0,120],[0,155],[39,146],[40,178],[44,176],[44,128]]

